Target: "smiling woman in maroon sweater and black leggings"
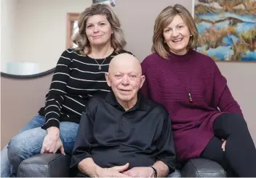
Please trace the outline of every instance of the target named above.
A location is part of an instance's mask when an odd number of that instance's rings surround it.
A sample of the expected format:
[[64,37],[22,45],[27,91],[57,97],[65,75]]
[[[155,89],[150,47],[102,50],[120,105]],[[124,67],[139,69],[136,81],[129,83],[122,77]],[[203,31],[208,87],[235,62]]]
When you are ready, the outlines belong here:
[[215,62],[193,49],[198,31],[179,4],[156,18],[153,54],[143,62],[142,94],[172,119],[177,161],[209,158],[228,175],[256,177],[256,149],[239,104]]

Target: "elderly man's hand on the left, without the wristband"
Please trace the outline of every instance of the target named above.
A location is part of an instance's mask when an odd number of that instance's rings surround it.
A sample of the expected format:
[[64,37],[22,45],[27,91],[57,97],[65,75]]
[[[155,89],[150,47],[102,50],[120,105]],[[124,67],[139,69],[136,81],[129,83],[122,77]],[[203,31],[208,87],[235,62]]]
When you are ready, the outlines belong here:
[[122,171],[127,170],[129,164],[125,164],[124,166],[113,166],[111,168],[100,168],[97,171],[98,177],[128,177],[125,174],[122,174]]

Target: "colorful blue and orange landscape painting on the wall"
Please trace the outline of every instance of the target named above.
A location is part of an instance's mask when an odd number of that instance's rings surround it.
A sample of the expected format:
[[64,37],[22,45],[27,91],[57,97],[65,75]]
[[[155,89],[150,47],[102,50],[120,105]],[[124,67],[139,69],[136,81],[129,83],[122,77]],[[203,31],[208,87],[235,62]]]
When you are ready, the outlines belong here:
[[193,0],[197,51],[216,61],[256,62],[256,0]]

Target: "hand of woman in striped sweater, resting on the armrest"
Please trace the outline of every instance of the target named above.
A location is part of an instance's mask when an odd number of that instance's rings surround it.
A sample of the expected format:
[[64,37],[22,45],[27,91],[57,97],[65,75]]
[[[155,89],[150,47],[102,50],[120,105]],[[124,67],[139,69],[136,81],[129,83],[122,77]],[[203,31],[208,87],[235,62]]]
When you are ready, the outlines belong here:
[[57,127],[49,127],[47,136],[44,137],[41,153],[56,153],[58,149],[65,155],[63,143],[60,140],[60,130]]

